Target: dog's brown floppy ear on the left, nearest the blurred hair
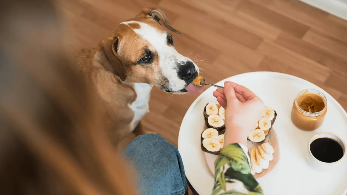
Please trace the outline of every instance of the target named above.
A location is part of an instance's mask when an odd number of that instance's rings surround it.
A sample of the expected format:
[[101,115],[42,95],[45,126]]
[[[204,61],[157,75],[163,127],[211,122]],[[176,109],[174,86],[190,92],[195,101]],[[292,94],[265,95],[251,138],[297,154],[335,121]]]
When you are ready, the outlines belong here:
[[96,48],[96,60],[109,72],[122,81],[127,79],[126,68],[117,54],[118,38],[102,40]]

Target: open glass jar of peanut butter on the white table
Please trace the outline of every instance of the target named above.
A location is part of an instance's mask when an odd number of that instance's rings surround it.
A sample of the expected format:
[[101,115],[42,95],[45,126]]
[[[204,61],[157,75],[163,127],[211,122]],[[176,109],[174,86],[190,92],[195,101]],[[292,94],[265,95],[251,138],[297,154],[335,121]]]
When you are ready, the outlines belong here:
[[318,90],[301,91],[293,102],[291,121],[302,130],[312,131],[319,128],[327,113],[327,98]]

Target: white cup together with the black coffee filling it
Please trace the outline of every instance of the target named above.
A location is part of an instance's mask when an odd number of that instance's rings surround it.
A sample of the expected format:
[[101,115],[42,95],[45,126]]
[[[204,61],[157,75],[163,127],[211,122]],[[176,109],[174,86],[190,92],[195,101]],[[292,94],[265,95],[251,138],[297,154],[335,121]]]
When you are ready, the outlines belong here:
[[346,144],[336,134],[321,132],[308,142],[306,160],[318,171],[330,171],[337,168],[345,158]]

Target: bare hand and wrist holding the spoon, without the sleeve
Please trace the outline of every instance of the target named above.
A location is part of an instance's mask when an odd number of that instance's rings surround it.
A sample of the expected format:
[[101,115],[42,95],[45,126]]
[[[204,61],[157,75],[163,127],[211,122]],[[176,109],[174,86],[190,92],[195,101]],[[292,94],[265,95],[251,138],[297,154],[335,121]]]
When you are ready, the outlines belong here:
[[225,108],[225,145],[240,143],[247,146],[247,136],[263,116],[265,104],[251,90],[233,82],[225,82],[224,90],[213,92]]

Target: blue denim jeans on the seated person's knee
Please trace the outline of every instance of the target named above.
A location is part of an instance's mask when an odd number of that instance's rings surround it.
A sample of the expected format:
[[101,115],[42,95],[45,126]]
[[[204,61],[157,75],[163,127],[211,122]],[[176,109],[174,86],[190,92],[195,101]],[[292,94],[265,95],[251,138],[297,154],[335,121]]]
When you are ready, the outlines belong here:
[[136,171],[141,195],[183,195],[188,192],[177,148],[156,134],[137,136],[123,151]]

